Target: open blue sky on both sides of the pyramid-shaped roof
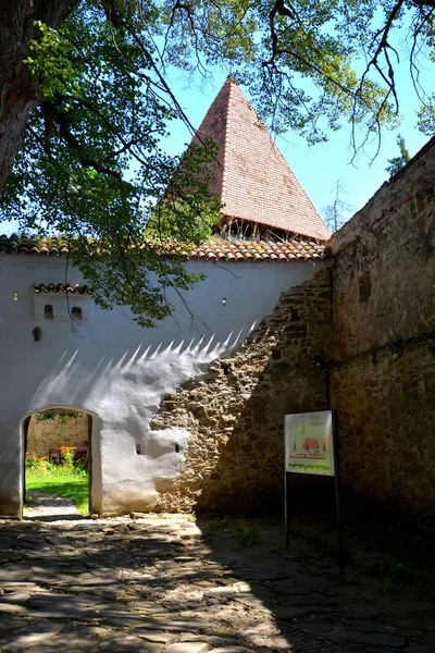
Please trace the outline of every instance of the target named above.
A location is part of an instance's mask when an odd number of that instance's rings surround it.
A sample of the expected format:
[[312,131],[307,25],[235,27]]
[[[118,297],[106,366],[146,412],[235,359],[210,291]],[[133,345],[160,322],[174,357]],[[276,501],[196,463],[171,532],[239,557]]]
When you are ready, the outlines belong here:
[[[206,82],[200,77],[197,81],[190,79],[188,85],[183,77],[177,77],[176,73],[173,75],[171,82],[175,95],[195,127],[199,126],[208,108],[225,82],[226,75],[226,72],[214,71],[213,79]],[[431,89],[428,73],[426,73],[426,78],[427,88]],[[373,162],[372,159],[377,149],[376,137],[373,137],[372,143],[364,147],[358,159],[352,164],[350,163],[352,152],[349,147],[349,125],[344,125],[340,131],[331,133],[327,143],[316,146],[309,146],[295,132],[289,132],[284,137],[278,136],[276,138],[276,143],[291,170],[322,215],[324,214],[324,208],[334,201],[337,181],[346,189],[346,193],[340,195],[341,200],[355,207],[355,211],[365,205],[377,188],[388,180],[388,173],[385,169],[388,165],[388,159],[399,155],[397,147],[398,134],[405,137],[411,157],[428,140],[427,136],[419,132],[415,126],[420,101],[409,79],[405,59],[397,77],[397,86],[402,123],[394,131],[383,131],[381,150]],[[247,90],[244,90],[250,99]],[[252,103],[254,106],[254,102]],[[182,124],[178,126],[174,124],[167,146],[171,152],[181,152],[189,140],[190,136],[187,128]]]

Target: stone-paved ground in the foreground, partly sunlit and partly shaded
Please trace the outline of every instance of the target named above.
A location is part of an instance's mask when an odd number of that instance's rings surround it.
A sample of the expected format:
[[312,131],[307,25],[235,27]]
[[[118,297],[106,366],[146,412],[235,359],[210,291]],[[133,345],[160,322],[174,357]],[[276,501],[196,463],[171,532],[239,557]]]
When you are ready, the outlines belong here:
[[273,544],[276,522],[241,547],[222,522],[42,508],[0,521],[3,653],[435,651],[427,596],[318,576]]

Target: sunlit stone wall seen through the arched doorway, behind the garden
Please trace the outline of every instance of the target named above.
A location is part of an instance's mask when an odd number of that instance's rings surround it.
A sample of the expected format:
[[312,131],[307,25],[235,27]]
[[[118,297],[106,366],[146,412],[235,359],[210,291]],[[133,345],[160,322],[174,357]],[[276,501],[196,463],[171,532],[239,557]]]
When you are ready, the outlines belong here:
[[49,448],[76,446],[89,440],[88,415],[69,417],[65,422],[59,416],[52,420],[37,421],[30,417],[27,431],[27,452],[38,457],[48,456]]

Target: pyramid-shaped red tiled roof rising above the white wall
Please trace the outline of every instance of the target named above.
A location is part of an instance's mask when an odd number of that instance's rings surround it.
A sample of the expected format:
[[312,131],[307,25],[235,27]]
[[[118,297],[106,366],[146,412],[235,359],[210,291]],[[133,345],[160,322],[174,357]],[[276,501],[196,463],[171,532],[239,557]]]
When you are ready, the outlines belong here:
[[217,145],[211,192],[228,218],[325,241],[331,232],[239,85],[227,79],[198,130]]

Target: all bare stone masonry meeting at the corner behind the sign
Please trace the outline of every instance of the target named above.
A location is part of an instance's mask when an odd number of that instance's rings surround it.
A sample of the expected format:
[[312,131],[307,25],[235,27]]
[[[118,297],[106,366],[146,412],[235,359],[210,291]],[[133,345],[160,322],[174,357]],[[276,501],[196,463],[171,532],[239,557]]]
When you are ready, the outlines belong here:
[[270,509],[283,493],[283,416],[332,407],[345,486],[430,521],[434,185],[435,140],[333,236],[328,270],[166,397],[151,427],[191,436],[181,477],[159,482],[159,509]]

